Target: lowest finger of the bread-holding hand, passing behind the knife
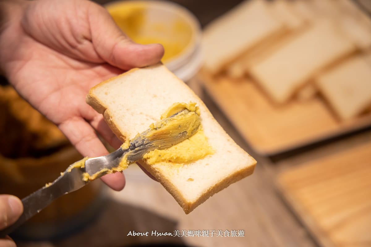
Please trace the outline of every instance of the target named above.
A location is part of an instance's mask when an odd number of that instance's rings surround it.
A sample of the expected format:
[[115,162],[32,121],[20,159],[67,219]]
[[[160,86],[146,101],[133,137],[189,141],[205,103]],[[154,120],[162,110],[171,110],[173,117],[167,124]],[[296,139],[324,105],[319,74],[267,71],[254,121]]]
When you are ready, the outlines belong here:
[[[59,124],[59,128],[83,156],[97,157],[108,154],[93,128],[82,118],[69,119]],[[121,190],[125,186],[125,177],[120,173],[105,176],[102,180],[114,190]]]

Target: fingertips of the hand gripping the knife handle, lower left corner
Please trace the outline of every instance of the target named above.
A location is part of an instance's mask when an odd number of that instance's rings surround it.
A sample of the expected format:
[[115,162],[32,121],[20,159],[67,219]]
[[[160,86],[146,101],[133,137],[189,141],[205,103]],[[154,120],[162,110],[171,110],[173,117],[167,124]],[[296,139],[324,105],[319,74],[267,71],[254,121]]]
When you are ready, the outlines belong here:
[[[22,201],[18,197],[0,195],[0,230],[16,222],[23,212]],[[16,246],[10,237],[0,238],[0,247]]]

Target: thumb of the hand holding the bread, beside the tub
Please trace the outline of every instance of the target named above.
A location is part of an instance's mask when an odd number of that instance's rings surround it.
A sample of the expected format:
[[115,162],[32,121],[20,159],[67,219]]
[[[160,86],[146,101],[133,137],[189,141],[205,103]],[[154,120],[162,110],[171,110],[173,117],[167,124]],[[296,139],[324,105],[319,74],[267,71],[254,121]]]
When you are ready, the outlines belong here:
[[161,44],[134,43],[119,29],[104,8],[97,6],[90,8],[90,11],[93,12],[89,14],[92,43],[96,52],[107,63],[128,70],[158,63],[164,55]]

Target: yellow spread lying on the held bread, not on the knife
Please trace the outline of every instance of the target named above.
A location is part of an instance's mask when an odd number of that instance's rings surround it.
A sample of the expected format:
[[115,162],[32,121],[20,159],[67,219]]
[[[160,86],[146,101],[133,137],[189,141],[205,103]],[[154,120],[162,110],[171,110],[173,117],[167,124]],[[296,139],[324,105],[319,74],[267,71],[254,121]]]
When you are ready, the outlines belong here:
[[[164,114],[162,114],[161,119],[170,117],[171,115],[184,109],[195,111],[198,115],[200,115],[200,110],[196,106],[196,103],[175,103]],[[179,116],[180,119],[183,117],[184,116],[182,115]],[[168,164],[181,165],[184,163],[199,160],[213,153],[214,150],[209,145],[202,126],[200,126],[196,134],[189,137],[187,140],[184,140],[181,143],[178,143],[167,149],[155,149],[153,151],[150,151],[149,153],[145,154],[143,158],[148,164],[165,162]]]

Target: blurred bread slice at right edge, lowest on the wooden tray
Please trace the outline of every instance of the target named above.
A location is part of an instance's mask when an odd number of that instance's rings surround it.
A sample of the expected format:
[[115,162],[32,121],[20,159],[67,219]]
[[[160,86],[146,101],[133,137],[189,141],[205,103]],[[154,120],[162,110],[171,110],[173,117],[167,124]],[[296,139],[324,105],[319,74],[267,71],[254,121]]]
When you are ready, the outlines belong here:
[[355,117],[371,105],[371,66],[363,55],[321,74],[317,85],[342,119]]

